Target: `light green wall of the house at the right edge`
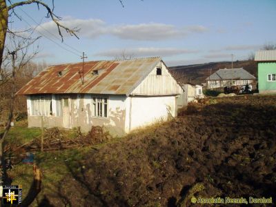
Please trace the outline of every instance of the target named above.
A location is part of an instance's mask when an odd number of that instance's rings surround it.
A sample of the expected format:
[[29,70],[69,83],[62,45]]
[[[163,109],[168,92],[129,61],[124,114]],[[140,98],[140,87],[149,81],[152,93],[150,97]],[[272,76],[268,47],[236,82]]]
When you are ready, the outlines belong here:
[[276,92],[276,81],[268,81],[268,74],[276,74],[276,62],[258,63],[259,92]]

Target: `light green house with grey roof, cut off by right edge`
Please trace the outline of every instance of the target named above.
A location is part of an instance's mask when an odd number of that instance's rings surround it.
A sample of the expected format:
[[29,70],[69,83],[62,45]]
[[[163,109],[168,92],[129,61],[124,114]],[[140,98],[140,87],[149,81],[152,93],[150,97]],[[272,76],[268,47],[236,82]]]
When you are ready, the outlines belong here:
[[260,50],[255,54],[258,62],[259,93],[276,92],[276,50]]

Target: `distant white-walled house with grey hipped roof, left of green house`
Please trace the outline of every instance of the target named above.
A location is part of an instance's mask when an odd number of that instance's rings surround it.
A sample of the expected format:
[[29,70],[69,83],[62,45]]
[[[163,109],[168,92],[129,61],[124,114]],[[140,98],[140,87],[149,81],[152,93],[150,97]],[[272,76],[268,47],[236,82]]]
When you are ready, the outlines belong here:
[[244,68],[219,69],[206,78],[207,88],[223,88],[225,86],[244,86],[255,83],[255,77]]

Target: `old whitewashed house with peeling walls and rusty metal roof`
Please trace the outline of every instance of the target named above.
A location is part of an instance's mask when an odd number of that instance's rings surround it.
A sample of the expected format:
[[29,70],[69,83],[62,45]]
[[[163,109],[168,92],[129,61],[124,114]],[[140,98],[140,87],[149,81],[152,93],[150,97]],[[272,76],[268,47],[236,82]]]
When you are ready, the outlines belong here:
[[164,61],[152,57],[50,66],[17,95],[27,96],[29,127],[105,126],[122,135],[177,116],[182,92]]

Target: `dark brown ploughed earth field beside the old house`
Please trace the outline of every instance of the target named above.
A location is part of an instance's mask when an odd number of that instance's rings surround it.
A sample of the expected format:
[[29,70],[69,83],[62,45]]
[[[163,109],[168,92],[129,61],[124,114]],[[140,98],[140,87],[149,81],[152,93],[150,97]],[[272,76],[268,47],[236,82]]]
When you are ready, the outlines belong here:
[[266,206],[275,205],[276,96],[205,102],[91,150],[50,203],[201,206],[190,198],[272,197]]

